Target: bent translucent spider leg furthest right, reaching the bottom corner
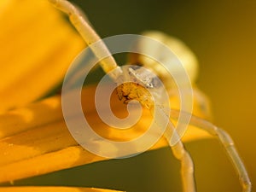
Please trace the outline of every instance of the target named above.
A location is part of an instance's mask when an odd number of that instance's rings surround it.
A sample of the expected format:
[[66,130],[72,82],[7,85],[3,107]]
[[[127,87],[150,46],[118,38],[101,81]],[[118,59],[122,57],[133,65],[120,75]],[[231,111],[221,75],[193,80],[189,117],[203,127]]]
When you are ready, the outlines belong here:
[[[177,119],[179,113],[180,112],[172,109],[171,117],[173,119]],[[212,123],[208,122],[207,120],[195,117],[193,115],[191,116],[190,124],[195,125],[196,127],[201,128],[204,131],[207,131],[214,137],[218,137],[218,140],[224,146],[226,153],[230,157],[233,165],[235,166],[236,172],[240,178],[242,191],[250,192],[252,189],[250,178],[248,177],[247,170],[236,150],[235,144],[230,135],[226,131],[218,128],[215,125],[212,125]]]

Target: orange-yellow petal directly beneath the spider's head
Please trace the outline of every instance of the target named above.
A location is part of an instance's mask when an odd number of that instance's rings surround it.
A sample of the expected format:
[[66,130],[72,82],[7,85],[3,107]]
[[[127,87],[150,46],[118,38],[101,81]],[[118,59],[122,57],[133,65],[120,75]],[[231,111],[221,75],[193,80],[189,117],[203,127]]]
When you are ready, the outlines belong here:
[[[95,90],[95,86],[84,89],[82,103],[83,106],[86,104],[86,118],[99,135],[112,141],[128,141],[147,130],[152,120],[147,110],[143,111],[139,122],[128,130],[116,130],[103,124],[94,106]],[[124,117],[126,106],[117,102],[117,96],[113,96],[112,103],[113,113]],[[0,183],[106,160],[91,154],[74,141],[62,117],[59,96],[0,115],[0,137]],[[206,132],[189,126],[183,141],[206,137]],[[151,149],[165,146],[166,140],[161,138]]]

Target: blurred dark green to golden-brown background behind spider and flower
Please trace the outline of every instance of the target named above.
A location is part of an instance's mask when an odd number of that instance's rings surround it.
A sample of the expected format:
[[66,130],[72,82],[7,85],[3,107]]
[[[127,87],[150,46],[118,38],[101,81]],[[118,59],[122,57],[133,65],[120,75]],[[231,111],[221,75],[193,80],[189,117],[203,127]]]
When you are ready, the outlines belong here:
[[[256,183],[256,1],[73,1],[102,38],[154,29],[180,38],[200,61],[197,84],[212,102],[213,123],[230,133]],[[186,143],[199,192],[241,191],[216,140]],[[182,191],[169,148],[16,182],[79,185],[129,192]]]

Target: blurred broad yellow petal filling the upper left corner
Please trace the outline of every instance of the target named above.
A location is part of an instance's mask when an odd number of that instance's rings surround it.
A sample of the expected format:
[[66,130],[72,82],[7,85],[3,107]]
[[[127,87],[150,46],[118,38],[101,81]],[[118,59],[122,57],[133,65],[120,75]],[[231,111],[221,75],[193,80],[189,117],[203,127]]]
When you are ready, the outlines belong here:
[[85,45],[45,0],[3,1],[0,10],[1,113],[35,101],[60,84]]

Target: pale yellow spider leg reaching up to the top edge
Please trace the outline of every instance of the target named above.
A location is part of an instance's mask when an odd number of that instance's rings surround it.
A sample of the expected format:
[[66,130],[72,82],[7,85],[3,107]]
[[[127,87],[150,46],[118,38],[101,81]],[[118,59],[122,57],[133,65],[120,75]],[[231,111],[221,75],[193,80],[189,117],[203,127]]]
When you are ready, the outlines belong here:
[[101,41],[101,38],[95,32],[90,22],[84,17],[84,14],[77,9],[72,3],[69,3],[67,0],[49,0],[49,3],[52,3],[55,8],[60,9],[62,12],[66,13],[69,16],[69,20],[72,22],[73,26],[78,30],[86,44],[94,44],[98,42],[97,46],[90,46],[90,49],[98,58],[102,58],[102,55],[109,55],[104,58],[100,65],[105,73],[109,73],[113,69],[117,69],[116,74],[113,74],[113,79],[116,79],[116,76],[119,76],[121,70],[117,63],[114,61],[113,56],[110,54],[106,44]]

